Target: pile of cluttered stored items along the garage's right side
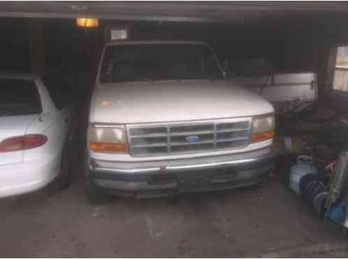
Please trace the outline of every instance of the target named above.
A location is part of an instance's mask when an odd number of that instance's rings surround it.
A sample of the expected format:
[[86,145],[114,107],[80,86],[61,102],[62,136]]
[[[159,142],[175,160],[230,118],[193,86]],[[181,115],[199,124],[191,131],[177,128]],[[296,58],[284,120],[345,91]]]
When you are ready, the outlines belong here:
[[275,145],[284,184],[316,216],[348,229],[348,120],[333,110],[280,117]]

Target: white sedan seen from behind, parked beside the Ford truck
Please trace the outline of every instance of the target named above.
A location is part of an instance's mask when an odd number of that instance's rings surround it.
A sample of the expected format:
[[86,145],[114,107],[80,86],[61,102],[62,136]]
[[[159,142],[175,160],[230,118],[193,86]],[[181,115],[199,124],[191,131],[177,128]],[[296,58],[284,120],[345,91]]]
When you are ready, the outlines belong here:
[[59,78],[0,74],[0,198],[68,186],[71,96]]

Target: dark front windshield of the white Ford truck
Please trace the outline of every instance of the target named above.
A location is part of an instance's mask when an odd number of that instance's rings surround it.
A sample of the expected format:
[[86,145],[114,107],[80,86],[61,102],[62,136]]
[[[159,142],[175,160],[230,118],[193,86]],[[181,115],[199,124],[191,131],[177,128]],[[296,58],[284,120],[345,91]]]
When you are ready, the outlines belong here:
[[221,79],[212,50],[198,44],[121,45],[106,48],[100,82]]

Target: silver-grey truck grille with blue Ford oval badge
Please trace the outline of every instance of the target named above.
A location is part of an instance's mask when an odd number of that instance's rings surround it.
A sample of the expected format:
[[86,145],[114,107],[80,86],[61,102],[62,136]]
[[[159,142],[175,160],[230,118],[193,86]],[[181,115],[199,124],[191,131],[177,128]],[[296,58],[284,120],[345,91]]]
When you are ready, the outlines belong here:
[[126,125],[131,156],[165,156],[246,147],[251,118]]

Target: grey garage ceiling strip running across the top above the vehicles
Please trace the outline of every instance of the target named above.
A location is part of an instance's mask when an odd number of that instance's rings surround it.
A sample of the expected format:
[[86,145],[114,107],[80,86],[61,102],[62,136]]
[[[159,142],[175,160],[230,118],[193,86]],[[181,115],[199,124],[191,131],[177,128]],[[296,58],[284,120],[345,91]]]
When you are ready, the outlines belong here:
[[2,2],[0,17],[73,18],[102,20],[153,20],[171,22],[265,22],[282,17],[341,13],[346,2]]

